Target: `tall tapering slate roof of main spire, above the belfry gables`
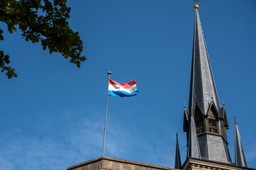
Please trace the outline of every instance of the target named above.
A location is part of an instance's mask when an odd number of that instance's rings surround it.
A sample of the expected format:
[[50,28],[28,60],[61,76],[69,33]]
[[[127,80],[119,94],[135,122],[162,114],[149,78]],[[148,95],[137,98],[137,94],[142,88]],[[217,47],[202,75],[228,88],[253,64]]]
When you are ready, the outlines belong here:
[[220,108],[211,64],[208,58],[204,33],[201,27],[199,12],[196,9],[194,23],[194,44],[191,64],[191,80],[189,94],[189,109],[193,109],[195,101],[206,115],[208,104],[213,101]]

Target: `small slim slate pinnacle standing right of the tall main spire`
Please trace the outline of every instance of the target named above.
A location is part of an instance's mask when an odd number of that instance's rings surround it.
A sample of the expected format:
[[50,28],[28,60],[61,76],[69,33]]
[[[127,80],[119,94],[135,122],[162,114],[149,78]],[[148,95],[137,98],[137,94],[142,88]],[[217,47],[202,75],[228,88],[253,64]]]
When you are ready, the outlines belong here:
[[247,167],[245,153],[243,152],[243,146],[238,130],[238,125],[235,120],[235,165]]

